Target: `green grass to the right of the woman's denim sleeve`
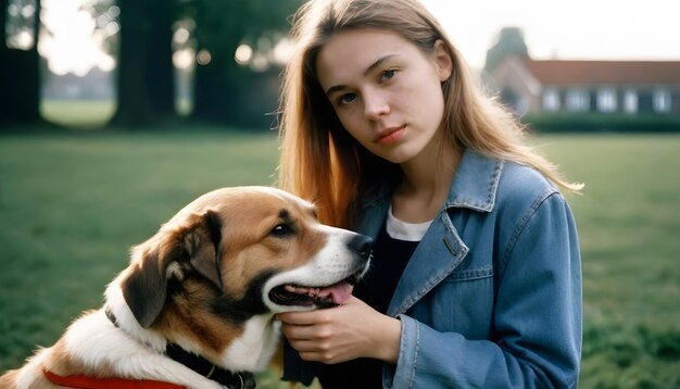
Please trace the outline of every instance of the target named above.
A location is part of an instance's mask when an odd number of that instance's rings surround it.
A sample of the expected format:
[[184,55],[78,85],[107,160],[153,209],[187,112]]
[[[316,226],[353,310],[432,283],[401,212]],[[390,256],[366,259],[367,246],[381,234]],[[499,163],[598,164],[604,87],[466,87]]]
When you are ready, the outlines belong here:
[[581,387],[680,387],[680,135],[540,139],[569,177],[583,262]]

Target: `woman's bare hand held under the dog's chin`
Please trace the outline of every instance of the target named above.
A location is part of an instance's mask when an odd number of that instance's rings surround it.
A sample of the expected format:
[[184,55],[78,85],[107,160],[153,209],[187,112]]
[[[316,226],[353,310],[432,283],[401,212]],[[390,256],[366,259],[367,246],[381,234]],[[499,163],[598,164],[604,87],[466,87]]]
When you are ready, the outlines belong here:
[[374,357],[395,364],[401,322],[351,297],[344,304],[277,315],[290,344],[305,361],[327,364]]

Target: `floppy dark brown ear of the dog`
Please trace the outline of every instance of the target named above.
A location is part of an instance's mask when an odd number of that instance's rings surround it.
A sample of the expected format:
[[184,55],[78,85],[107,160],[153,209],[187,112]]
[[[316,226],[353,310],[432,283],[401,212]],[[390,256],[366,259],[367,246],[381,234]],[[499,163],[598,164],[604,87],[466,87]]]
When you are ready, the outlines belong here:
[[167,299],[168,281],[181,281],[194,269],[222,289],[219,241],[222,224],[212,211],[191,215],[188,221],[159,234],[136,250],[139,260],[121,288],[139,324],[148,328],[159,317]]

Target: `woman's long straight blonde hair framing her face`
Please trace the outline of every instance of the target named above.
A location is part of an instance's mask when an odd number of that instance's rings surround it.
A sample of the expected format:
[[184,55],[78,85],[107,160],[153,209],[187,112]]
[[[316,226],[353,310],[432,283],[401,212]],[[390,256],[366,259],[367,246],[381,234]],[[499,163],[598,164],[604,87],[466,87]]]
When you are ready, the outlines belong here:
[[353,227],[357,203],[376,181],[396,178],[398,165],[364,149],[338,120],[316,75],[316,57],[338,32],[382,29],[400,34],[425,52],[441,39],[453,72],[442,84],[446,138],[457,150],[529,165],[558,187],[579,191],[555,165],[525,141],[524,127],[473,81],[443,28],[417,0],[311,0],[293,16],[295,51],[281,89],[281,159],[278,185],[317,203],[324,223]]

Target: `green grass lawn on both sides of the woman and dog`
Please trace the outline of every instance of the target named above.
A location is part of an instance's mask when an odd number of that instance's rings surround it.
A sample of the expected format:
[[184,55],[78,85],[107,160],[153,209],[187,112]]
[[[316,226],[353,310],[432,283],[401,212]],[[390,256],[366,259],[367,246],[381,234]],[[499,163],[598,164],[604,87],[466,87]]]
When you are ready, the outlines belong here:
[[[582,388],[680,386],[680,135],[537,139],[568,177],[583,256]],[[49,346],[184,204],[270,185],[273,133],[0,135],[0,372]],[[264,377],[259,387],[272,387]]]

